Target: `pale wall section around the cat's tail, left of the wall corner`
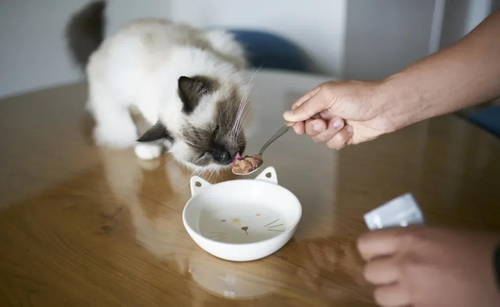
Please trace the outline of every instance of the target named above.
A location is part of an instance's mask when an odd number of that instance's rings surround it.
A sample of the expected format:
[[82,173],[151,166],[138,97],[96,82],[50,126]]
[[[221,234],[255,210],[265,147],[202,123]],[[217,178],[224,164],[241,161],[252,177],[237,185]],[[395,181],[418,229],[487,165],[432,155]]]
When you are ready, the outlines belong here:
[[[0,0],[0,97],[75,82],[64,27],[89,0]],[[109,31],[137,17],[170,18],[170,0],[110,0]]]

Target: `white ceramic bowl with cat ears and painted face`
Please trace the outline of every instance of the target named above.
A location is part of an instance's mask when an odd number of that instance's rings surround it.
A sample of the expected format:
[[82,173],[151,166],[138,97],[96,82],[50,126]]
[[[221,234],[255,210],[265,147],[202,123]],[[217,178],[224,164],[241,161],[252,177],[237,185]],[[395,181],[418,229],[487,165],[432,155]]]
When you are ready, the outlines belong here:
[[191,194],[182,212],[184,227],[202,249],[226,260],[256,260],[278,251],[302,216],[297,197],[278,185],[274,167],[256,179],[214,185],[194,176]]

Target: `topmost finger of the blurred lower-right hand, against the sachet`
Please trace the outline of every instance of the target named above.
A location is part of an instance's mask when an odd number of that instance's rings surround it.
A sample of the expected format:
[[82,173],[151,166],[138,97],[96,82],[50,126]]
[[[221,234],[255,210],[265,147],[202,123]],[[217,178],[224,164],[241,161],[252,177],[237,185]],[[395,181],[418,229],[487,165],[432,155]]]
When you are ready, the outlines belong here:
[[358,239],[358,251],[365,260],[393,255],[400,242],[401,228],[372,230]]

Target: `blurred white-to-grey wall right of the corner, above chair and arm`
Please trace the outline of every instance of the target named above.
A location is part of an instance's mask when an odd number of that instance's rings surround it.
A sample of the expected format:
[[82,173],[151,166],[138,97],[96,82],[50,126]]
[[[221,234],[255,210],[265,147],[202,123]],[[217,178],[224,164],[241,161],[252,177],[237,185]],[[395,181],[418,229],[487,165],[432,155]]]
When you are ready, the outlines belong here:
[[445,10],[467,12],[463,20],[446,20],[463,27],[463,36],[489,14],[491,1],[172,0],[172,16],[198,27],[277,32],[305,51],[316,72],[376,79],[438,50]]

